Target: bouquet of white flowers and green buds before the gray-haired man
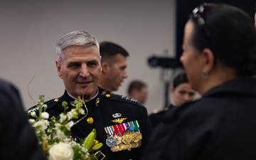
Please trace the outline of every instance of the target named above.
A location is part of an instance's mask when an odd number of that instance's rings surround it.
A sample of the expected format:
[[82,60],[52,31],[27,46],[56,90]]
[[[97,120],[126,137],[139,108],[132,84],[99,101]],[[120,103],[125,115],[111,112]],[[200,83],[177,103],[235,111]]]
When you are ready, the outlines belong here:
[[67,112],[68,103],[64,101],[62,103],[64,112],[60,113],[57,118],[51,117],[49,119],[49,114],[46,112],[47,105],[44,104],[44,96],[39,95],[38,113],[31,112],[30,116],[33,119],[29,119],[29,122],[36,130],[38,144],[42,146],[49,160],[95,159],[94,154],[91,153],[103,145],[95,139],[96,130],[92,129],[92,132],[79,143],[74,141],[70,133],[70,127],[73,124],[71,120],[77,119],[80,114],[85,114],[85,110],[82,109],[83,105],[85,102],[78,97],[78,100],[75,100],[75,107]]

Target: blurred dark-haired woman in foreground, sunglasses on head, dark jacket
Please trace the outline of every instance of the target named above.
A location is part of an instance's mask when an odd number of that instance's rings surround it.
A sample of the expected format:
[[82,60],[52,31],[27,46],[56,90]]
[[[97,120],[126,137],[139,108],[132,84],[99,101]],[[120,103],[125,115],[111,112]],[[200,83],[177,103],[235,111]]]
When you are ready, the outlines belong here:
[[167,112],[143,159],[256,159],[256,30],[225,4],[201,4],[185,26],[181,62],[200,100]]

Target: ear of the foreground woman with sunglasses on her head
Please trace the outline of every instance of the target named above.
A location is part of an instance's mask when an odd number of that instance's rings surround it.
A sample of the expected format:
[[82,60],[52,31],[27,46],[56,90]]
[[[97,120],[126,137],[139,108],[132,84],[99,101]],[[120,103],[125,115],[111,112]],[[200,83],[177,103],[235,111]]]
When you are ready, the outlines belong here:
[[210,73],[215,65],[215,58],[213,52],[209,48],[204,48],[201,55],[203,56],[204,61],[203,72]]

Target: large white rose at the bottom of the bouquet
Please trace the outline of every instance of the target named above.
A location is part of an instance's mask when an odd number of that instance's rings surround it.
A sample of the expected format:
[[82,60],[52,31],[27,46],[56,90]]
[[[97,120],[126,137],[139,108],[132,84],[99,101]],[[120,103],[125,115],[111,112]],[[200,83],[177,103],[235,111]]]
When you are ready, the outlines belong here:
[[70,144],[60,142],[49,150],[49,160],[72,160],[74,152]]

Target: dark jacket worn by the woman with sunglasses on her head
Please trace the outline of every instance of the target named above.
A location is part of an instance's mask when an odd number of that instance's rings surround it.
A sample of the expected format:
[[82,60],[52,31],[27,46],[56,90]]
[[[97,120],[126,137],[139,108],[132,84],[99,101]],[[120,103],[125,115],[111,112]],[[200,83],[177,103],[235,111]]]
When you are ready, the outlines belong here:
[[238,78],[164,114],[143,160],[256,159],[256,81]]

